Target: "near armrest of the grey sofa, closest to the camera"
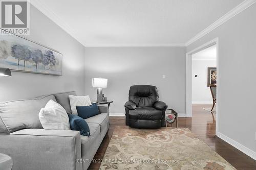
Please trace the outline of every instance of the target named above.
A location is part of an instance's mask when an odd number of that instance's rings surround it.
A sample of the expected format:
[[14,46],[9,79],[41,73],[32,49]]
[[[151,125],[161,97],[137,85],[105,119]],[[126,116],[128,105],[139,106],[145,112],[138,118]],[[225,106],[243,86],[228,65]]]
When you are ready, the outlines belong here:
[[81,159],[78,131],[23,129],[0,138],[0,150],[13,159],[13,169],[82,169],[77,162]]

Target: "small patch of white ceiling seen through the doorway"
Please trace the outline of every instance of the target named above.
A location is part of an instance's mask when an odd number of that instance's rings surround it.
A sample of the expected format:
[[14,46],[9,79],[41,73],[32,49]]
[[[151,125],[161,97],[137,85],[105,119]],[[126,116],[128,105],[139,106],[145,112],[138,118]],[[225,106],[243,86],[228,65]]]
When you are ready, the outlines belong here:
[[192,60],[216,60],[217,59],[217,46],[212,45],[204,50],[193,54]]

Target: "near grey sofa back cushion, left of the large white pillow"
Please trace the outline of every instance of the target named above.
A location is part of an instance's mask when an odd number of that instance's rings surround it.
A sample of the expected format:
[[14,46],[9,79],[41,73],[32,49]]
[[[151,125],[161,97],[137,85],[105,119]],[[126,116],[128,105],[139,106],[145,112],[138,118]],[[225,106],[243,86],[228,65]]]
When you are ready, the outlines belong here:
[[42,129],[38,113],[54,95],[36,99],[16,100],[0,103],[0,132],[12,133],[19,129]]

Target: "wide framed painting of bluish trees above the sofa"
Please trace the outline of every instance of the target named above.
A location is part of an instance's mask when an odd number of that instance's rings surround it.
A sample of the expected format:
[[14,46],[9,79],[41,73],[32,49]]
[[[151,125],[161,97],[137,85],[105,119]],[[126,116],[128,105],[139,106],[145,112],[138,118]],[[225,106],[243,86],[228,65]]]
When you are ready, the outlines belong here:
[[62,54],[9,33],[0,36],[0,67],[10,68],[12,71],[62,76]]

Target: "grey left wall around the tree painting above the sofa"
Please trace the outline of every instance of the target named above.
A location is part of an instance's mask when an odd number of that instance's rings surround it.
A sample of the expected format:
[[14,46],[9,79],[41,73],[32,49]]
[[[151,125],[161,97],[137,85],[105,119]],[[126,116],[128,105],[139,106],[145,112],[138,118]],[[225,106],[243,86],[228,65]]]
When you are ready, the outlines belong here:
[[30,36],[24,37],[62,53],[63,76],[12,71],[12,77],[0,77],[0,101],[69,90],[84,94],[84,46],[33,6],[30,16]]

